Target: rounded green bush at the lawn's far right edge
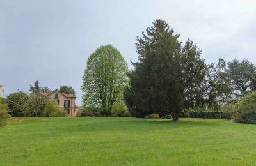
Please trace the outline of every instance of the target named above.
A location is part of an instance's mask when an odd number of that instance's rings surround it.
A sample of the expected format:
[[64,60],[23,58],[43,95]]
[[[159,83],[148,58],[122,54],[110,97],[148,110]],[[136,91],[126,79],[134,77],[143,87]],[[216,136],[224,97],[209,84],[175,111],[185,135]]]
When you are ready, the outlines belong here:
[[256,91],[249,93],[240,100],[234,121],[256,124]]

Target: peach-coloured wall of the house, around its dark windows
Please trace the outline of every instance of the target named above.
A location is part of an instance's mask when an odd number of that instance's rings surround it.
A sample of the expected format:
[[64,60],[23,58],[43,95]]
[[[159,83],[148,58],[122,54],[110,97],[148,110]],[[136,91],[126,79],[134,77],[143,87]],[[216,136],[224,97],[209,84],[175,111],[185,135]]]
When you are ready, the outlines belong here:
[[[57,99],[55,98],[56,93],[58,93],[58,98]],[[59,100],[59,107],[60,107],[61,110],[65,109],[64,101],[65,100],[70,100],[69,116],[72,116],[72,117],[75,116],[75,101],[76,101],[76,98],[67,98],[58,91],[56,91],[52,94],[49,94],[48,97],[52,100]]]

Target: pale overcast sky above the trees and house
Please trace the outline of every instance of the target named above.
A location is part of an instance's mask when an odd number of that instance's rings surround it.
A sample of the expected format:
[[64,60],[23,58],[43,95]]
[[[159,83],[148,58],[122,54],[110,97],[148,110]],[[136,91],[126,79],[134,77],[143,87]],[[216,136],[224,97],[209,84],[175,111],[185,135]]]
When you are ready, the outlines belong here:
[[[131,68],[136,36],[168,20],[180,40],[195,41],[207,63],[256,64],[256,1],[0,0],[0,84],[7,96],[36,80],[74,87],[81,105],[86,60],[100,45],[117,47]],[[60,83],[58,83],[60,82]]]

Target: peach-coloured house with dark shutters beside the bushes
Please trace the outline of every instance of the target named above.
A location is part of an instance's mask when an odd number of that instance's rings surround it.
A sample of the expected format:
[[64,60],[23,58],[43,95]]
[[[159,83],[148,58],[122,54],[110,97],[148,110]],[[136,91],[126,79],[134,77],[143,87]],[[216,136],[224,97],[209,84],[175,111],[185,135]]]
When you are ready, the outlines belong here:
[[58,103],[61,110],[65,110],[69,116],[76,116],[76,96],[73,94],[61,93],[58,89],[45,93],[49,99]]

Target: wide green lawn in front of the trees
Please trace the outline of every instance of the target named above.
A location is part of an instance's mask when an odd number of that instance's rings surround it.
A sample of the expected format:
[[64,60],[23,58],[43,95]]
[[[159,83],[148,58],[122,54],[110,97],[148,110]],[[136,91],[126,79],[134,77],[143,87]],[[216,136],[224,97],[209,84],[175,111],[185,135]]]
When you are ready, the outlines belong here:
[[0,165],[256,165],[256,125],[223,119],[12,118]]

